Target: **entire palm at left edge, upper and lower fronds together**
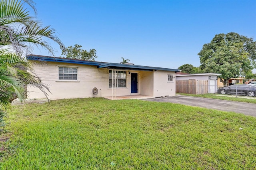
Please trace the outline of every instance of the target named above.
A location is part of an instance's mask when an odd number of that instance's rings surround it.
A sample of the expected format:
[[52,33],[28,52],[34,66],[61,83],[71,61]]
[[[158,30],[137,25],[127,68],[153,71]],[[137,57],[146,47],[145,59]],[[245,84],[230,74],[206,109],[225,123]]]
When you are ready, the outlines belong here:
[[26,86],[30,83],[46,95],[48,87],[42,85],[23,53],[30,52],[32,45],[41,46],[54,55],[54,50],[44,39],[57,42],[61,49],[63,43],[54,36],[55,30],[50,26],[42,27],[35,17],[30,16],[24,5],[34,8],[31,0],[0,1],[0,111],[6,110],[10,99],[16,95],[20,101],[26,98]]

